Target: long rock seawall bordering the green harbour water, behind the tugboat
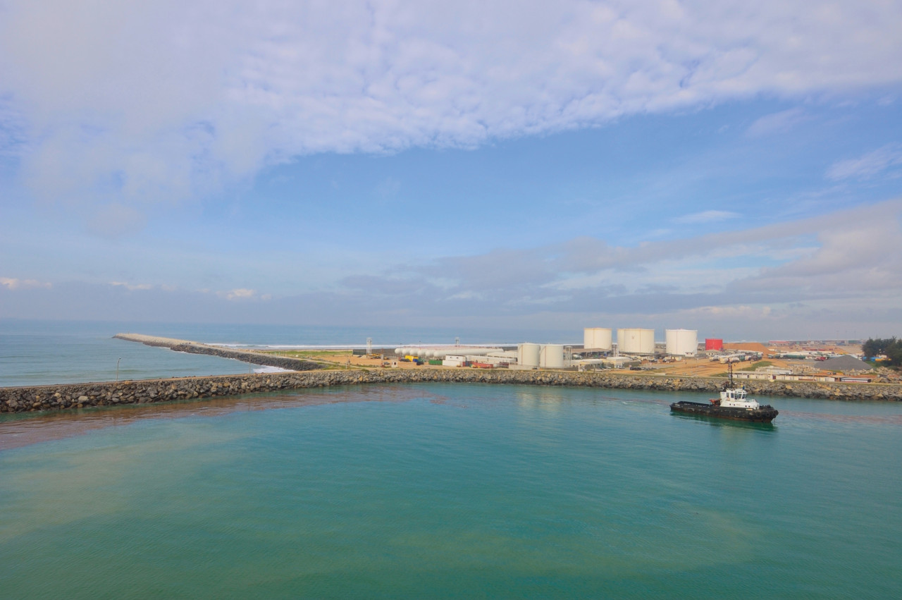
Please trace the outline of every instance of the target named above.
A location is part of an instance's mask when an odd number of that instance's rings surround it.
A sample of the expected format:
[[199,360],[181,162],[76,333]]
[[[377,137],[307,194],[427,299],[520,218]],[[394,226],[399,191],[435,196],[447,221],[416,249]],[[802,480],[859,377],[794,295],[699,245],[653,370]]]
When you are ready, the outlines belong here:
[[[363,383],[499,383],[566,385],[662,392],[717,392],[723,379],[642,374],[482,369],[373,369],[220,375],[138,382],[72,383],[0,388],[0,412],[57,411],[89,406],[169,402]],[[751,394],[831,400],[902,401],[902,385],[751,381]]]

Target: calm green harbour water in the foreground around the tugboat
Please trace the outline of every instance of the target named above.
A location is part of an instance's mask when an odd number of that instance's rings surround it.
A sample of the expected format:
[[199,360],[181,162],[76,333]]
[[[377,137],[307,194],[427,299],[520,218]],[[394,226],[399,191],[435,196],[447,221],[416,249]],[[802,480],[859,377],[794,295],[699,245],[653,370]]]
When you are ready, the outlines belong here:
[[424,384],[85,413],[109,426],[0,451],[0,596],[902,597],[902,406],[667,410],[696,398]]

